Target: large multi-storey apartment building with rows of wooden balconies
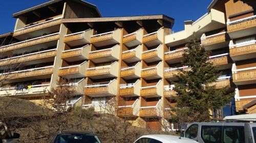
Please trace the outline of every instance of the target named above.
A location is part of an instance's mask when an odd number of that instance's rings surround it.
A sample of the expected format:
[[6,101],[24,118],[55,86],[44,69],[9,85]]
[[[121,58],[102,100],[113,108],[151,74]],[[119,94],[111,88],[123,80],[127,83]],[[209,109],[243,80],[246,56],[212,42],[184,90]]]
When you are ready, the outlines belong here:
[[[230,87],[234,101],[212,112],[215,118],[255,112],[256,18],[254,1],[212,1],[196,21],[173,33],[165,15],[102,17],[96,6],[80,0],[53,0],[13,14],[14,31],[0,35],[0,96],[35,103],[66,79],[77,98],[71,104],[102,111],[118,97],[116,115],[152,129],[169,124],[174,106],[174,74],[183,49],[193,38],[211,51],[209,60],[223,75],[217,90]],[[15,68],[14,71],[9,70]]]

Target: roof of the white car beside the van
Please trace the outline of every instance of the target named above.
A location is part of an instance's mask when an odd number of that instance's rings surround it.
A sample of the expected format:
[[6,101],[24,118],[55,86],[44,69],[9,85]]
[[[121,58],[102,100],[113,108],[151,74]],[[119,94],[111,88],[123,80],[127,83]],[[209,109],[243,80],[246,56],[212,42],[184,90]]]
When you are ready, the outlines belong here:
[[175,136],[175,135],[166,135],[166,134],[151,134],[151,135],[143,135],[140,138],[154,138],[159,141],[162,141],[163,143],[165,142],[172,142],[172,143],[191,143],[191,142],[197,142],[193,139],[189,138],[184,138],[180,136]]

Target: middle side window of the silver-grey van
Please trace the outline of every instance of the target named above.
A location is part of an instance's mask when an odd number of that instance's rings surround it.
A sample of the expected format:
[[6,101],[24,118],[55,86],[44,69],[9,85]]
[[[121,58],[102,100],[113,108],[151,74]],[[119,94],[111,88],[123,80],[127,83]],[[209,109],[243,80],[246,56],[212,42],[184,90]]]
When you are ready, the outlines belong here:
[[[201,138],[205,143],[221,143],[222,126],[202,126]],[[231,142],[232,143],[232,142]]]

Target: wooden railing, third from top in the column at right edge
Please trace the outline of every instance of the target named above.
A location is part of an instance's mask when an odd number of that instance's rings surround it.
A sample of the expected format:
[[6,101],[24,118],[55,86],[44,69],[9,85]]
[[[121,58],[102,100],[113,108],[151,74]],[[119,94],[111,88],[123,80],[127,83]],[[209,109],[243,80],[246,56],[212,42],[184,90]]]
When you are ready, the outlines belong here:
[[233,73],[233,82],[256,80],[256,69]]

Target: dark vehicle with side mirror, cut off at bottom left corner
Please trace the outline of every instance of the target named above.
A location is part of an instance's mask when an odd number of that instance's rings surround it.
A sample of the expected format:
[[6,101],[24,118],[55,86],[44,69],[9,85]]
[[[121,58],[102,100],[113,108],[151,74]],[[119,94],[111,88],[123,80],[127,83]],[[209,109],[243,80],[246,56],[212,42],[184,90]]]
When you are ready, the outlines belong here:
[[19,133],[11,133],[6,124],[0,122],[0,143],[17,143]]

